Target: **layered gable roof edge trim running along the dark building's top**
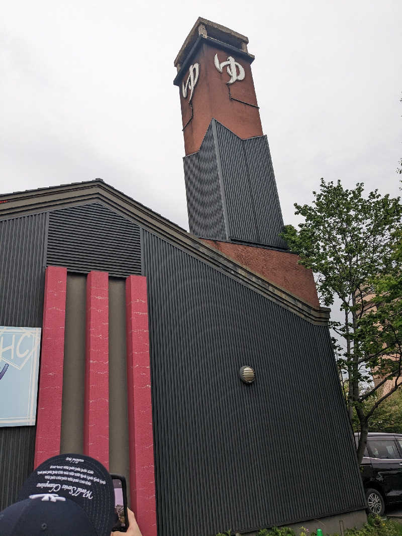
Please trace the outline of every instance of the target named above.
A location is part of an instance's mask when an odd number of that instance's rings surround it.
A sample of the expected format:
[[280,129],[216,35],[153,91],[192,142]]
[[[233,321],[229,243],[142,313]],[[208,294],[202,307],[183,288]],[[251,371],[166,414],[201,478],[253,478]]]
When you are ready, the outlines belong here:
[[109,209],[134,221],[148,232],[167,240],[309,322],[327,325],[330,309],[326,307],[315,309],[286,289],[273,285],[269,280],[236,263],[235,260],[188,233],[187,230],[148,209],[99,178],[93,181],[61,184],[54,187],[0,195],[0,220],[84,205],[94,201],[106,205]]

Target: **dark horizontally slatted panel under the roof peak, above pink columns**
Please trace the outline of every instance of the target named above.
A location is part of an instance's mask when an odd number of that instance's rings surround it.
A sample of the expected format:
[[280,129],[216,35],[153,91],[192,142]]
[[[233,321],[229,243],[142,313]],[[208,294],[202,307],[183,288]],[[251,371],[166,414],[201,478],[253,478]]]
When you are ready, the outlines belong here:
[[140,274],[139,227],[100,203],[55,210],[49,215],[47,262],[74,272]]

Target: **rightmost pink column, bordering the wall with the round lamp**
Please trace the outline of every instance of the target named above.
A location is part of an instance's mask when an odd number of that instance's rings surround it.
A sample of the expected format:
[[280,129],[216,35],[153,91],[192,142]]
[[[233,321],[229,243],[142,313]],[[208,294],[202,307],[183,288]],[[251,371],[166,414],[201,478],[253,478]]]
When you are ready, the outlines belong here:
[[156,536],[150,343],[146,278],[125,282],[131,508],[143,536]]

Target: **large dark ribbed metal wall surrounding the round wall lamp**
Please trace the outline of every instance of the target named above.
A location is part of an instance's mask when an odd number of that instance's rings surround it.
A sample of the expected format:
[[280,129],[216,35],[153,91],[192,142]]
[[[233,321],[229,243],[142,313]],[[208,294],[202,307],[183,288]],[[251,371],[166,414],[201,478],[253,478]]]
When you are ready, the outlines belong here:
[[327,328],[147,232],[144,270],[159,536],[364,508]]

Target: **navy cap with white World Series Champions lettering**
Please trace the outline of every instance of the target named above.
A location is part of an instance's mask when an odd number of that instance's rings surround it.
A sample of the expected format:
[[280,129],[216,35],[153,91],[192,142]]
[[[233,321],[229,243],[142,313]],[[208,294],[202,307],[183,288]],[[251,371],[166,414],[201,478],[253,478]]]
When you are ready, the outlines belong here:
[[0,512],[1,536],[110,536],[113,481],[93,458],[49,458],[28,477],[18,498]]

